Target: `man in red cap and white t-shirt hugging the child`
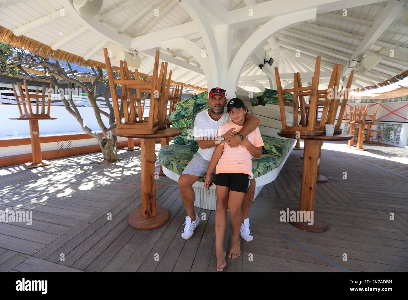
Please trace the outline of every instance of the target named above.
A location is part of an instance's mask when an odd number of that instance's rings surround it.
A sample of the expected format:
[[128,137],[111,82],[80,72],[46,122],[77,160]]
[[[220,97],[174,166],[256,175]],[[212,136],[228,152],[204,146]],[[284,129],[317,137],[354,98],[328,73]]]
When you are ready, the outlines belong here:
[[[198,179],[206,176],[215,146],[218,143],[225,141],[229,143],[229,146],[237,147],[242,139],[253,132],[259,124],[259,119],[257,117],[247,114],[244,127],[239,131],[240,135],[237,135],[237,132],[234,131],[235,128],[231,128],[221,136],[221,141],[218,141],[215,137],[217,137],[217,132],[220,129],[220,126],[231,121],[225,108],[227,103],[226,91],[222,88],[212,88],[208,94],[207,101],[210,108],[198,113],[194,121],[193,136],[197,137],[197,143],[200,148],[197,153],[194,154],[193,159],[188,163],[178,180],[180,196],[187,212],[185,227],[181,234],[182,238],[185,240],[188,240],[193,236],[197,225],[200,223],[200,218],[194,211],[195,195],[192,186]],[[241,206],[243,220],[240,235],[242,239],[247,242],[253,240],[253,236],[249,230],[248,212],[254,195],[255,179],[251,179],[250,186],[248,187]]]

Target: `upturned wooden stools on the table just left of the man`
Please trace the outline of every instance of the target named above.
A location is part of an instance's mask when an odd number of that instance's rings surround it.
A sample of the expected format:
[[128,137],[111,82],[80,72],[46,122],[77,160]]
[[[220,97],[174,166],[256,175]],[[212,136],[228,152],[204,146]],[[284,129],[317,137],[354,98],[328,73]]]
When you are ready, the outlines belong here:
[[[167,63],[162,63],[159,73],[159,51],[156,51],[153,66],[152,80],[139,80],[138,71],[135,70],[135,79],[131,79],[126,61],[120,61],[120,79],[113,77],[113,69],[104,48],[106,71],[111,90],[113,110],[117,124],[116,133],[119,134],[155,134],[158,129],[164,129],[163,109],[165,99],[165,84]],[[116,85],[121,85],[121,94],[116,90]],[[141,93],[150,93],[149,119],[143,119],[143,106]],[[120,101],[119,101],[120,100]],[[120,107],[123,106],[123,113]],[[122,121],[123,118],[123,121]]]

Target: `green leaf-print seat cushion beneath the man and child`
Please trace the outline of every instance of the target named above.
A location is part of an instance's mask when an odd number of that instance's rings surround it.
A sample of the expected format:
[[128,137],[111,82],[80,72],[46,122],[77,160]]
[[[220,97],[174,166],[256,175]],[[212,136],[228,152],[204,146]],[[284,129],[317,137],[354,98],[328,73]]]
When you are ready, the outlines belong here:
[[[252,159],[252,173],[255,178],[271,172],[277,168],[285,159],[289,149],[295,143],[295,139],[279,140],[273,138],[265,138],[264,144],[268,149],[271,149],[270,144],[273,143],[276,152],[281,156],[263,153],[260,158],[254,157]],[[191,161],[195,152],[190,151],[189,146],[170,144],[164,146],[159,151],[159,161],[167,169],[181,175],[186,165]],[[198,181],[204,182],[205,177]]]

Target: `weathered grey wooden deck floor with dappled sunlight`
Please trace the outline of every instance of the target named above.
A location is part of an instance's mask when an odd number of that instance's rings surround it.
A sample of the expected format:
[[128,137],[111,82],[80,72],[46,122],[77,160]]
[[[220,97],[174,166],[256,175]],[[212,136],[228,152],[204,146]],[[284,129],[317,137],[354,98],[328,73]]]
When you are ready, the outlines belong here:
[[[299,203],[303,152],[293,150],[251,207],[253,242],[242,243],[226,271],[408,271],[408,149],[365,147],[324,144],[320,174],[330,181],[317,185],[315,205],[331,224],[323,233],[279,222],[279,211]],[[1,168],[0,210],[32,210],[34,221],[0,223],[0,271],[215,271],[214,212],[197,208],[206,220],[182,240],[176,182],[156,184],[157,205],[170,213],[165,225],[129,227],[127,215],[141,202],[140,151],[119,157],[110,166],[90,154],[33,170]]]

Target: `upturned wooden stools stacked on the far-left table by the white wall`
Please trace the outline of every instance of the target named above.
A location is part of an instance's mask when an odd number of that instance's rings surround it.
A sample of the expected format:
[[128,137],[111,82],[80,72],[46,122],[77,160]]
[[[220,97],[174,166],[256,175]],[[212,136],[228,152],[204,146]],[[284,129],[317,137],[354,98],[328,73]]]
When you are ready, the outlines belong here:
[[[41,93],[37,87],[35,94],[30,94],[27,86],[27,81],[24,80],[24,90],[20,82],[17,82],[18,92],[14,84],[12,84],[14,96],[16,97],[18,110],[21,118],[49,118],[51,106],[52,84],[49,85],[48,93],[46,93],[45,85],[42,86]],[[35,100],[35,110],[32,108],[32,100]]]

